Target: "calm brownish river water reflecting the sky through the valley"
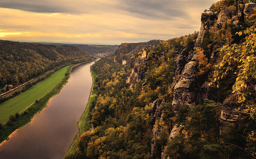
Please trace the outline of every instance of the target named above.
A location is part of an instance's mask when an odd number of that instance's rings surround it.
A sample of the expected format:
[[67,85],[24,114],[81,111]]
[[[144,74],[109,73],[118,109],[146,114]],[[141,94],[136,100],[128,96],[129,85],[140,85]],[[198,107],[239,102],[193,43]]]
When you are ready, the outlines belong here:
[[72,69],[69,82],[49,105],[0,146],[1,159],[64,158],[90,96],[92,64]]

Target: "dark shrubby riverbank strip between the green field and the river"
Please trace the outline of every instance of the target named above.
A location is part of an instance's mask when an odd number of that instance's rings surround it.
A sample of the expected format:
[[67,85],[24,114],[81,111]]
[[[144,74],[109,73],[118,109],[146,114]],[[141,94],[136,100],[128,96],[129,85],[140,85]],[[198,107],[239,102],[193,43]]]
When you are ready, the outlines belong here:
[[[86,62],[86,63],[89,63],[89,62]],[[19,114],[18,117],[15,117],[15,120],[12,121],[12,123],[5,124],[4,128],[2,129],[0,128],[0,143],[9,139],[10,136],[12,136],[15,133],[15,131],[17,131],[18,129],[31,123],[33,118],[39,112],[41,112],[42,109],[48,106],[50,98],[58,94],[60,90],[63,88],[63,86],[67,83],[70,77],[70,73],[75,66],[78,66],[78,65],[68,66],[66,72],[63,74],[61,81],[52,90],[50,90],[44,96],[42,96],[37,101],[35,101],[34,104],[31,104],[26,110],[24,110],[21,114]]]

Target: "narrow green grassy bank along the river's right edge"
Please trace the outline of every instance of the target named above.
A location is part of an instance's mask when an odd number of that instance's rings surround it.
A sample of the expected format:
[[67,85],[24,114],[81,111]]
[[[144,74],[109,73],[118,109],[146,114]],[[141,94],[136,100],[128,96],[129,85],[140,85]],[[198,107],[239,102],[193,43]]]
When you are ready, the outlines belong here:
[[90,98],[88,101],[88,104],[86,106],[86,109],[83,112],[83,115],[81,116],[79,122],[78,122],[78,129],[79,133],[75,136],[74,140],[72,141],[72,144],[69,146],[69,150],[67,150],[67,153],[65,155],[65,158],[72,158],[72,155],[74,154],[79,154],[76,153],[79,151],[78,146],[77,146],[77,141],[79,137],[86,131],[91,131],[91,120],[90,120],[90,110],[91,110],[91,103],[92,101],[95,100],[97,97],[97,90],[94,89],[94,86],[96,85],[95,83],[95,72],[91,70],[91,77],[93,80],[92,86],[91,86],[91,93],[90,93]]

